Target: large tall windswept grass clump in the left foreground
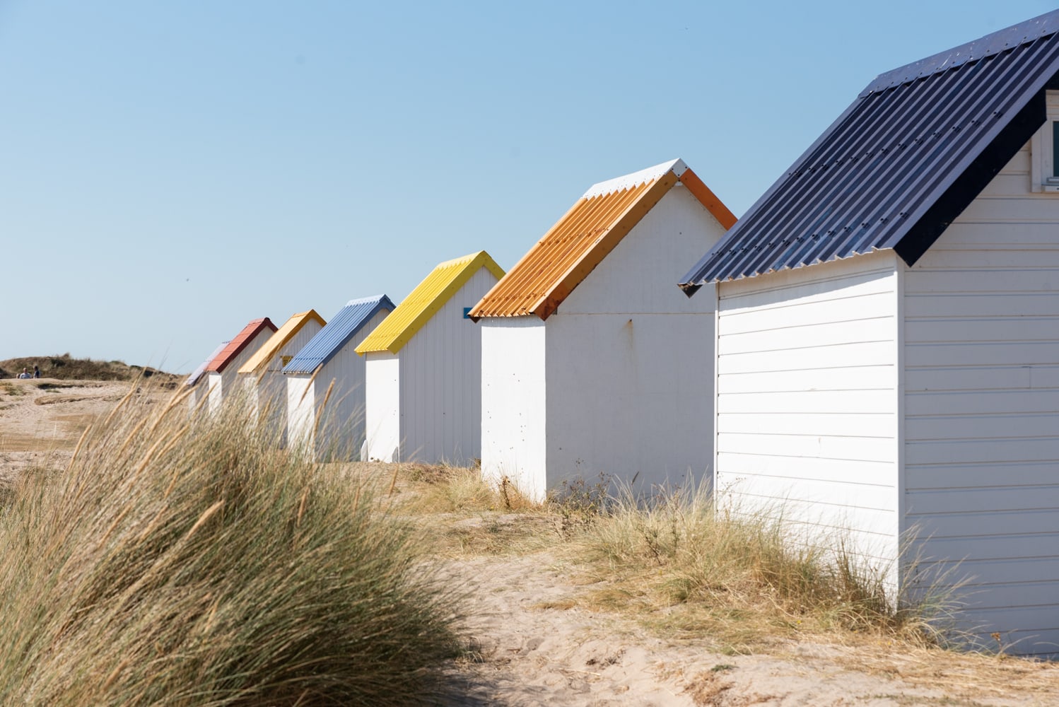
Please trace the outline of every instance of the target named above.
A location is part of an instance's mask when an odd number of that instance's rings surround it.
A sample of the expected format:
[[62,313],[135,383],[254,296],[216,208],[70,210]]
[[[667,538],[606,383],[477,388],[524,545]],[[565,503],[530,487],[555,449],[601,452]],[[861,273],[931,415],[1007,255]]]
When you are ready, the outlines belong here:
[[184,407],[130,396],[0,509],[0,704],[433,700],[454,597],[416,534],[238,405]]

